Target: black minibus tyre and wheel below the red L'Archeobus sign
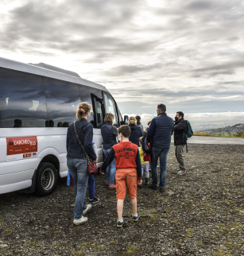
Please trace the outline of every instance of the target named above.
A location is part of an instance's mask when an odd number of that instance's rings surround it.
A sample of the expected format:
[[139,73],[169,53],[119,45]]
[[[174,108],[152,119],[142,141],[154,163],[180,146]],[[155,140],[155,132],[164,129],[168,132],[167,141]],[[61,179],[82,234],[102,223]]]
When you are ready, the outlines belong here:
[[54,165],[44,162],[37,169],[36,193],[39,196],[52,194],[57,184],[57,172]]

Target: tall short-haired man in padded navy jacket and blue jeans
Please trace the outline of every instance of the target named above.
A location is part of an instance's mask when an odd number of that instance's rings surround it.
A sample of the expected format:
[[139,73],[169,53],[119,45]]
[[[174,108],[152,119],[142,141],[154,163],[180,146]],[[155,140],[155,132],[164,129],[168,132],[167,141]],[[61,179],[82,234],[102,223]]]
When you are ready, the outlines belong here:
[[148,140],[152,140],[152,184],[149,188],[157,190],[157,159],[160,157],[160,192],[165,191],[165,180],[167,175],[167,158],[170,148],[171,135],[174,130],[174,121],[168,117],[166,106],[157,105],[157,117],[153,118],[148,130]]

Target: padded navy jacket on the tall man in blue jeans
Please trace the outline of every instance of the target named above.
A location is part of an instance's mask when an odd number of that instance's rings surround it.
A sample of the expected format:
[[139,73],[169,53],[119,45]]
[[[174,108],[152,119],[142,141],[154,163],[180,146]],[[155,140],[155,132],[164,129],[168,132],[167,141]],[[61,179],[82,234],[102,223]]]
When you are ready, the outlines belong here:
[[152,146],[158,149],[169,149],[174,121],[166,113],[160,113],[153,118],[147,138],[152,139]]

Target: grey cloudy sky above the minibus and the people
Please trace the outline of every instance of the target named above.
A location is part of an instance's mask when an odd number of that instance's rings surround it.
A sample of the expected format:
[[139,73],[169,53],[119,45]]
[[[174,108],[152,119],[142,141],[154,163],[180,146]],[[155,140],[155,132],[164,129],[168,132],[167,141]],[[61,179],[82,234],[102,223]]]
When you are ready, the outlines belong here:
[[165,103],[193,130],[244,122],[244,1],[2,0],[0,56],[106,86],[143,124]]

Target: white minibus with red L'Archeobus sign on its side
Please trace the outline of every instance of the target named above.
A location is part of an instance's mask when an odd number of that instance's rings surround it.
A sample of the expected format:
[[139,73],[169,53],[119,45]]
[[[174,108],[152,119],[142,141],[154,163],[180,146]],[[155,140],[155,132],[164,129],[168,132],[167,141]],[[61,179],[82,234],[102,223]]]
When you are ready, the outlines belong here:
[[67,127],[81,102],[90,103],[98,167],[103,164],[100,127],[107,113],[121,126],[117,103],[106,87],[47,64],[23,64],[0,57],[0,194],[37,192],[47,196],[58,176],[67,176]]

